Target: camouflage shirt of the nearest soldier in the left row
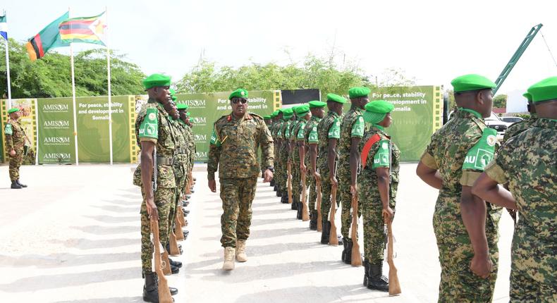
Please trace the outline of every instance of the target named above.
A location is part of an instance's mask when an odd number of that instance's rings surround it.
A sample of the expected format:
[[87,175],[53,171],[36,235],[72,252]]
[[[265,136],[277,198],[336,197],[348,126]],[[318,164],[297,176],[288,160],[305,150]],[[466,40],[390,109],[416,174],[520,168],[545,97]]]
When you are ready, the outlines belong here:
[[[176,135],[171,128],[169,114],[166,113],[162,104],[154,99],[149,99],[146,106],[143,106],[140,113],[137,114],[137,120],[135,120],[137,145],[141,148],[142,141],[153,142],[157,149],[157,158],[173,159],[176,149]],[[176,187],[172,165],[157,164],[157,171],[157,187]],[[141,164],[135,169],[133,184],[141,186]]]

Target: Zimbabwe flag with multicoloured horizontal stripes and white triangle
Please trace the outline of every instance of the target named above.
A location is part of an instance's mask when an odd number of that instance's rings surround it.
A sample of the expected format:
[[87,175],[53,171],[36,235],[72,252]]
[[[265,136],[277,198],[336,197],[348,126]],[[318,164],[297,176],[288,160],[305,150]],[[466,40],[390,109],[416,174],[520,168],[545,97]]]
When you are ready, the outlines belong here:
[[59,25],[63,42],[80,42],[105,45],[102,41],[106,32],[104,12],[98,16],[71,18]]

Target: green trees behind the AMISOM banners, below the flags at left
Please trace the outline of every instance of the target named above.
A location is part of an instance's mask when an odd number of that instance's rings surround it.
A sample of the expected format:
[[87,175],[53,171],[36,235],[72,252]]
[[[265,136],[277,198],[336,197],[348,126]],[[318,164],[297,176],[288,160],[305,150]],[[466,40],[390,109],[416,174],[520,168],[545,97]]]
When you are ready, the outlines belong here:
[[[5,44],[0,47],[4,54]],[[10,39],[11,94],[18,98],[71,97],[70,56],[50,52],[32,62],[27,56],[25,44]],[[7,97],[6,64],[0,60],[0,97]],[[106,75],[106,50],[82,51],[74,57],[75,95],[78,97],[108,94]],[[141,94],[145,74],[124,57],[111,52],[111,94]]]

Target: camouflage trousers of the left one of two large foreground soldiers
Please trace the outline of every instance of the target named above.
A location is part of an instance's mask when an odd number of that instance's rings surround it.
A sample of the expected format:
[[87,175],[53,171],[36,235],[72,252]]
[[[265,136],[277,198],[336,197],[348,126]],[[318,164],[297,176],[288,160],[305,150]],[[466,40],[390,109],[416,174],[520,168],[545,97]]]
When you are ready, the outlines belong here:
[[441,264],[438,302],[491,302],[493,299],[499,259],[497,230],[501,209],[493,211],[489,205],[486,236],[493,271],[488,278],[483,279],[470,271],[474,251],[460,216],[460,197],[443,194],[443,190],[439,192],[433,216]]

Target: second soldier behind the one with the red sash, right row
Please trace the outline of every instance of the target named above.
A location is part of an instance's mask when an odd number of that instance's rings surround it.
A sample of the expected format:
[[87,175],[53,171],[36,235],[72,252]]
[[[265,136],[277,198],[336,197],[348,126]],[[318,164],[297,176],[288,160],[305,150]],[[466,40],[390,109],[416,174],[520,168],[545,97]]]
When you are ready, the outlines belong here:
[[[319,159],[317,168],[321,175],[321,216],[323,223],[323,231],[321,234],[321,243],[329,244],[329,233],[331,232],[331,222],[329,222],[329,211],[331,210],[331,189],[338,187],[336,180],[336,161],[338,160],[337,141],[341,138],[341,114],[343,112],[343,104],[346,99],[337,94],[327,94],[327,108],[329,112],[327,116],[319,121],[317,125],[317,136],[319,140]],[[340,200],[340,194],[336,195],[336,204]],[[338,241],[342,244],[342,240]]]

